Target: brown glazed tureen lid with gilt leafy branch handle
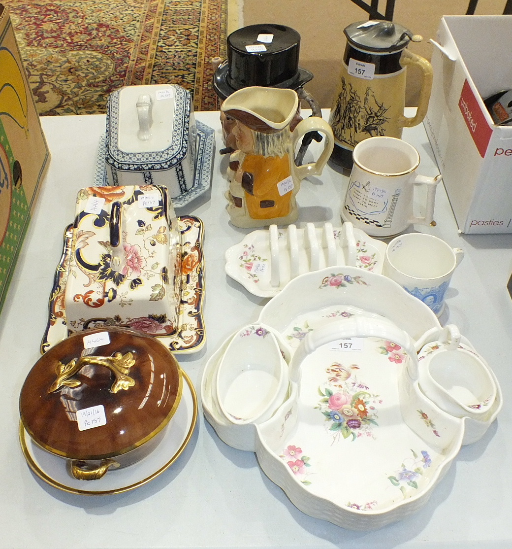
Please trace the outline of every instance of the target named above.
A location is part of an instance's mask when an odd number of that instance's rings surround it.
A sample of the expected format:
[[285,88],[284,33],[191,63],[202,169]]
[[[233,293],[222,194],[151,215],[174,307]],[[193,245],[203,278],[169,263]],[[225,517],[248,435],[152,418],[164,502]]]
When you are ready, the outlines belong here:
[[182,388],[178,362],[156,338],[130,328],[96,328],[39,358],[21,389],[20,416],[45,450],[71,460],[104,460],[166,427]]

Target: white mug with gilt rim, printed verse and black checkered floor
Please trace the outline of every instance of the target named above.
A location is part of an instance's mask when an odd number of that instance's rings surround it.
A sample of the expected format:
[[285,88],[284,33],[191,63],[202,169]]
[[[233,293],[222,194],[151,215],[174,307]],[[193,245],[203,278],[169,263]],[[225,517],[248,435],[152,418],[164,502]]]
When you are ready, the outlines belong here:
[[[441,176],[417,173],[418,151],[396,137],[369,137],[357,143],[354,166],[342,208],[343,221],[350,221],[369,236],[388,238],[413,223],[435,225],[434,200]],[[425,185],[425,216],[413,212],[414,187]]]

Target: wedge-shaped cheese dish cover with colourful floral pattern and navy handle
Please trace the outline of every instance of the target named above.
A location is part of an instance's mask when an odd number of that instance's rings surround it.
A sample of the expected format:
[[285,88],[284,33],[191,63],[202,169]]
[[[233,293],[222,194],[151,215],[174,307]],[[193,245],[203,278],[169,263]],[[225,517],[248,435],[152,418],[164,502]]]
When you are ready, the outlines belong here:
[[81,189],[72,231],[64,298],[70,332],[111,319],[152,335],[175,333],[181,233],[166,188]]

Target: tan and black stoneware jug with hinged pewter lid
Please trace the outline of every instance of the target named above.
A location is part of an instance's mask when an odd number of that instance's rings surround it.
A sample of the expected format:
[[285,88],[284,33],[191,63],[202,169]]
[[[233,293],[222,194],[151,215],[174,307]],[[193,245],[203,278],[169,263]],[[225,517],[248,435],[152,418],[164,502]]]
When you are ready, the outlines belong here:
[[[335,139],[331,161],[349,170],[352,150],[363,139],[401,138],[402,128],[422,122],[433,71],[426,59],[406,49],[422,37],[392,21],[360,21],[344,33],[347,44],[329,124]],[[417,65],[422,75],[417,113],[411,118],[403,115],[408,65]]]

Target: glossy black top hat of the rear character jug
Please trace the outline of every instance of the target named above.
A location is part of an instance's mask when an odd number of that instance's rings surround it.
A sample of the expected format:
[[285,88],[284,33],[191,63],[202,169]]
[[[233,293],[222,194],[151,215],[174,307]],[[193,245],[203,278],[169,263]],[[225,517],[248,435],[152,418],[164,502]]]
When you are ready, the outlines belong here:
[[299,68],[299,51],[300,35],[291,27],[242,27],[227,37],[227,59],[213,77],[215,93],[224,100],[248,86],[300,88],[313,75]]

